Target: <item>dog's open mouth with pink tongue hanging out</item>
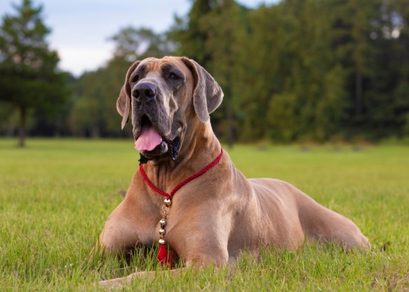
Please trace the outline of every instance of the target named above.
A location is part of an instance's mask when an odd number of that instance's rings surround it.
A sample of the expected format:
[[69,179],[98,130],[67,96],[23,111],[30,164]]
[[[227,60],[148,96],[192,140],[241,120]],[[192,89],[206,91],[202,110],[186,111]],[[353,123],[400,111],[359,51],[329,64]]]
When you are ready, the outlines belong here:
[[141,163],[164,154],[175,160],[178,156],[179,147],[179,136],[172,140],[162,137],[150,119],[143,115],[141,130],[135,139],[135,149],[141,153]]

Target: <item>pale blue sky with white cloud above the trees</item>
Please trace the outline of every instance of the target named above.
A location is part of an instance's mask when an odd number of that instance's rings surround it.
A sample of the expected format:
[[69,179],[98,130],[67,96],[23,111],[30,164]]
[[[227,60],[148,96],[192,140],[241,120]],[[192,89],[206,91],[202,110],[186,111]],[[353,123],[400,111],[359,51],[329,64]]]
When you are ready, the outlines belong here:
[[[192,0],[32,0],[43,5],[42,18],[52,29],[47,41],[59,54],[59,68],[79,76],[106,64],[114,50],[110,36],[128,26],[147,27],[159,33],[173,24],[174,15],[186,15]],[[278,0],[238,0],[257,8]],[[15,15],[13,4],[22,0],[0,0],[0,17]]]

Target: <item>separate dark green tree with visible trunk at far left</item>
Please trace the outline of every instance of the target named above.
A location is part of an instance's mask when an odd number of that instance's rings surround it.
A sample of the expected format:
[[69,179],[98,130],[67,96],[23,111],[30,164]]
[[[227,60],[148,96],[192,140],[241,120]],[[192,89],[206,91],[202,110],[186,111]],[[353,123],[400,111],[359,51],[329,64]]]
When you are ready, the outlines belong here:
[[41,20],[42,6],[31,0],[13,6],[0,27],[0,101],[20,113],[19,145],[24,146],[29,110],[56,115],[68,96],[65,75],[57,71],[59,57],[48,48],[50,29]]

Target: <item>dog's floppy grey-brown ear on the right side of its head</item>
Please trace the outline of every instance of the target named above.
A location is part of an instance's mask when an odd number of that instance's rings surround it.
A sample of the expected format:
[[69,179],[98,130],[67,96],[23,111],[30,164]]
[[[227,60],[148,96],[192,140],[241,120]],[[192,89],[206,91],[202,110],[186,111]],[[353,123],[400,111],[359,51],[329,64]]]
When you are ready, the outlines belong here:
[[193,85],[193,106],[197,117],[202,123],[210,120],[210,112],[213,112],[222,103],[222,88],[216,80],[202,66],[185,57],[181,58],[187,68],[192,71],[194,78]]

